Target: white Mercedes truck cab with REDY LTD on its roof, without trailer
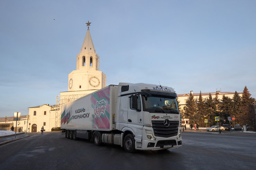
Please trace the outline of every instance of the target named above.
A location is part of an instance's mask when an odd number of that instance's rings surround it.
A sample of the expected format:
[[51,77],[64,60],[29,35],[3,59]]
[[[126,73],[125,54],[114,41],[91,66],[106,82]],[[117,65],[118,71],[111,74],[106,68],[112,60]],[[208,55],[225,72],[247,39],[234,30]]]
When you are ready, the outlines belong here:
[[127,152],[179,148],[181,114],[173,88],[119,83],[116,129]]

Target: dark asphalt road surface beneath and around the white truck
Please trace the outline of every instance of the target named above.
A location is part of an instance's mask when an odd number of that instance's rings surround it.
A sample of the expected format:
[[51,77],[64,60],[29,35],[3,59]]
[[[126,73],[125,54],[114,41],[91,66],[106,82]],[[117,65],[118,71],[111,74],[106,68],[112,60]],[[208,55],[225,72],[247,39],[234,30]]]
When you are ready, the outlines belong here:
[[0,169],[254,169],[256,137],[182,133],[182,147],[127,153],[45,132],[0,146]]

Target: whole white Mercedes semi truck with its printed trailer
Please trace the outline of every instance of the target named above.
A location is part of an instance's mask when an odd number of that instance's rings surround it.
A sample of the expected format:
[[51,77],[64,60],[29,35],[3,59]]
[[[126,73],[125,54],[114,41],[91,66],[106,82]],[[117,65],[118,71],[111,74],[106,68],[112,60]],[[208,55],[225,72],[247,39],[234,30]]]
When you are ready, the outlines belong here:
[[61,108],[67,139],[89,139],[124,147],[127,152],[182,146],[181,114],[173,88],[119,83]]

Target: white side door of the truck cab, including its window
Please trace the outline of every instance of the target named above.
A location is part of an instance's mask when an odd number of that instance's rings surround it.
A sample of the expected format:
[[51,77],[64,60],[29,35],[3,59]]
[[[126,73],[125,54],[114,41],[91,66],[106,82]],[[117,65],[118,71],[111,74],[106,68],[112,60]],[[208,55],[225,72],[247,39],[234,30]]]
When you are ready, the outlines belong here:
[[[134,96],[134,97],[132,97]],[[136,107],[134,104],[137,102]],[[135,137],[142,138],[142,128],[143,128],[143,109],[140,94],[131,95],[129,97],[128,106],[128,127],[130,127],[135,132]]]

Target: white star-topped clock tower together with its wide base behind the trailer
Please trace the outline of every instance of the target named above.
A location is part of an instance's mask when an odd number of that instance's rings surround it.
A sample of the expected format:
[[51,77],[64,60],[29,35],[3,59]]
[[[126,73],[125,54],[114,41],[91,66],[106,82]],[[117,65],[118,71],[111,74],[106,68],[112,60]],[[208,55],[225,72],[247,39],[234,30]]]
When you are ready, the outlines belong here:
[[106,87],[106,75],[99,71],[100,57],[93,46],[89,26],[80,53],[76,56],[76,70],[68,74],[68,91],[56,96],[55,127],[60,127],[61,107],[87,94]]

